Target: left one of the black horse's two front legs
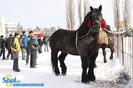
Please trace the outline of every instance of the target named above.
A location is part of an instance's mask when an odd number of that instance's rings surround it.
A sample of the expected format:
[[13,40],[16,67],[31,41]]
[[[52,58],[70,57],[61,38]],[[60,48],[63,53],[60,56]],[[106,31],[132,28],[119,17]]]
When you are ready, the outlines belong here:
[[88,67],[88,58],[81,56],[82,61],[82,79],[81,82],[87,83],[89,82],[88,75],[87,75],[87,67]]

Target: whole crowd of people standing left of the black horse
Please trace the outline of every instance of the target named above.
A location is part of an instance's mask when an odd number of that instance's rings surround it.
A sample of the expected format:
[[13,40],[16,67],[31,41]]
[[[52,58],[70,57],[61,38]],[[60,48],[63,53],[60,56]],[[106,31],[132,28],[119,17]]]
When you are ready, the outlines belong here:
[[[13,60],[13,71],[20,72],[18,60],[26,61],[30,68],[37,68],[37,54],[42,53],[42,46],[44,45],[44,52],[48,52],[49,36],[35,36],[33,31],[29,31],[26,35],[25,31],[22,34],[15,32],[9,37],[0,36],[0,57],[2,60]],[[7,55],[5,55],[7,50]],[[21,58],[19,52],[21,51]]]

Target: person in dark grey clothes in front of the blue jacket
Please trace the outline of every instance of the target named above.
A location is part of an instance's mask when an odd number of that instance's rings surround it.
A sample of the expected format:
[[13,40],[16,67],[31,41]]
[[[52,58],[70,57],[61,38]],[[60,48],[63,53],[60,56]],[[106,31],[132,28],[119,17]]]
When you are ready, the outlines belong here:
[[34,34],[30,35],[30,40],[28,42],[28,48],[31,53],[30,56],[30,67],[36,68],[36,58],[37,58],[37,47],[38,43],[36,42],[36,39],[34,38]]

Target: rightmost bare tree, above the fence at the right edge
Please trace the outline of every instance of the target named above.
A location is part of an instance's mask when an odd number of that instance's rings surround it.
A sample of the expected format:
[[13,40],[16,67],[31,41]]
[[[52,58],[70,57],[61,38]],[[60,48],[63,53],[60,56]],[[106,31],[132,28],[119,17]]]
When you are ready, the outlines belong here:
[[124,27],[128,29],[131,23],[131,0],[123,0],[123,20]]

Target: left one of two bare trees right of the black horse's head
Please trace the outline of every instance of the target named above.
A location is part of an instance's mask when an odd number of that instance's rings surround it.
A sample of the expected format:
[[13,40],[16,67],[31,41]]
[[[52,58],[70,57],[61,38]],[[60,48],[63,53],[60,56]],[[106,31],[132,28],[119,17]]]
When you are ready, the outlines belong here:
[[119,30],[119,22],[120,22],[120,0],[114,0],[114,25]]

